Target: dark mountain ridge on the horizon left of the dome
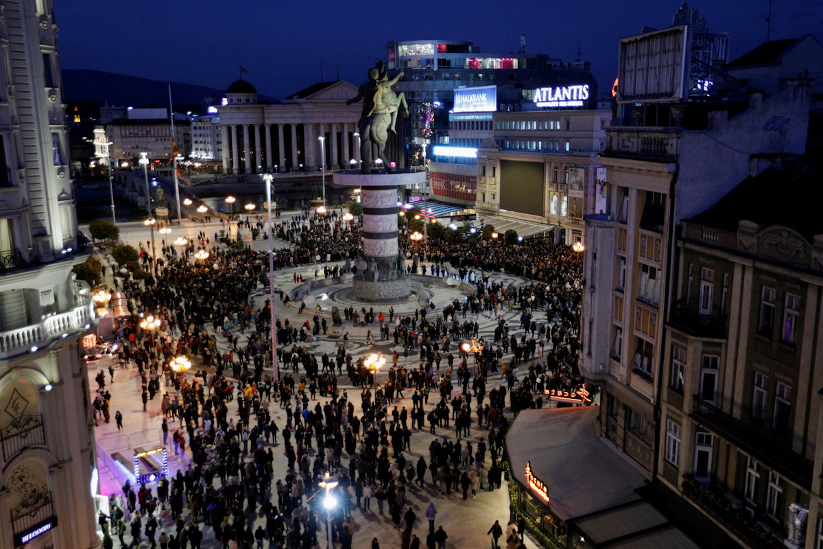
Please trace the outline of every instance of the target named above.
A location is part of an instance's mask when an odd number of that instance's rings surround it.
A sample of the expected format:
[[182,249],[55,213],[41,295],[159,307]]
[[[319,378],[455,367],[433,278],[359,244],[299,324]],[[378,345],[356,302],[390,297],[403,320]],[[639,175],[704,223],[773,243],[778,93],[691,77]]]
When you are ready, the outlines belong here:
[[[114,72],[89,69],[63,69],[63,100],[66,102],[97,102],[109,105],[168,105],[169,82],[151,78],[129,77]],[[212,97],[217,103],[225,90],[206,86],[171,82],[174,105],[199,105],[204,97]],[[260,95],[260,100],[272,100]]]

